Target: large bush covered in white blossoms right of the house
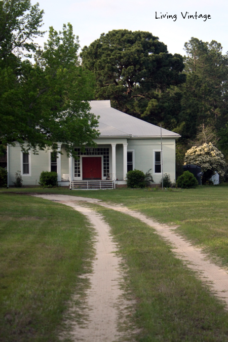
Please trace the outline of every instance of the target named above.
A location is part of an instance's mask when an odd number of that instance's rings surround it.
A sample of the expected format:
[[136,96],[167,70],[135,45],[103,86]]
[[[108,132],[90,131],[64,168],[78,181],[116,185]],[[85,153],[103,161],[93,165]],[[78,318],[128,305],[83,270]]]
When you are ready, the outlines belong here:
[[188,149],[184,157],[184,165],[187,164],[201,166],[204,172],[203,183],[209,180],[215,171],[221,176],[224,175],[224,156],[211,142]]

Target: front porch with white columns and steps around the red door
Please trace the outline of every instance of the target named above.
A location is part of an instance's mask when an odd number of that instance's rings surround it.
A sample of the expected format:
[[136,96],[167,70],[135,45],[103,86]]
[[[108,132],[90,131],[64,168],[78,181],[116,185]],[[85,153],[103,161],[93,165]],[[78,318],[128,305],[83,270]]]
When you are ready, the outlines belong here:
[[[109,183],[126,183],[129,167],[127,139],[102,139],[102,142],[96,142],[97,147],[86,147],[85,150],[75,147],[78,159],[67,158],[64,145],[59,144],[61,154],[56,159],[56,169],[60,186],[68,182],[70,188],[87,188],[86,181],[97,181],[99,188],[110,188]],[[92,183],[89,182],[88,187],[90,184]]]

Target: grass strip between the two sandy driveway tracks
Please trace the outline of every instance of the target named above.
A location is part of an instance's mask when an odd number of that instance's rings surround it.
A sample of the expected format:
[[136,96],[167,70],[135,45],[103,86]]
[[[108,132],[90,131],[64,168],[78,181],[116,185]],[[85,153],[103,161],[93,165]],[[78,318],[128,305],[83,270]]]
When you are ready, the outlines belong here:
[[140,342],[224,342],[228,313],[207,286],[174,257],[154,230],[138,219],[94,206],[111,226],[136,298],[133,318]]

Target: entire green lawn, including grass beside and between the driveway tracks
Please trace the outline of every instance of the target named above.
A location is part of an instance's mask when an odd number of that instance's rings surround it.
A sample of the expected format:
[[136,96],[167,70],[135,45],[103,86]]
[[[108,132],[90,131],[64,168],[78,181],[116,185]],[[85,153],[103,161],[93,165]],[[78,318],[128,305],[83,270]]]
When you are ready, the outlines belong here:
[[[143,189],[69,191],[61,188],[3,191],[4,194],[0,193],[3,201],[1,207],[4,207],[0,226],[0,264],[3,267],[0,274],[4,276],[0,286],[4,295],[0,298],[4,306],[0,306],[3,318],[0,324],[4,326],[3,336],[7,336],[9,331],[12,335],[9,339],[0,337],[1,342],[57,341],[55,329],[61,322],[65,300],[72,293],[72,286],[79,281],[78,275],[87,267],[82,261],[84,256],[92,253],[92,232],[80,214],[42,199],[10,195],[12,191],[66,194],[123,203],[160,222],[179,224],[179,234],[228,266],[227,186],[204,186],[176,192],[149,192]],[[184,267],[182,261],[174,257],[172,249],[153,229],[128,215],[117,215],[98,205],[93,207],[110,224],[120,254],[124,257],[126,288],[136,299],[133,321],[141,329],[138,341],[228,341],[228,314],[223,304],[211,295],[192,271]],[[27,216],[28,219],[25,219]],[[81,222],[77,229],[75,217],[77,222]],[[63,229],[68,222],[71,228]],[[36,229],[33,229],[34,224]],[[85,232],[80,229],[84,225],[87,227]],[[76,236],[81,240],[77,240]],[[74,242],[76,240],[77,243]],[[75,244],[78,246],[76,249],[73,248]],[[65,280],[69,277],[65,266],[70,265],[68,261],[71,260],[68,253],[74,255],[73,264],[78,260],[77,267],[72,266],[75,274],[69,272],[73,278],[70,282]],[[49,280],[50,274],[53,274],[52,280]],[[33,281],[33,278],[36,280]],[[64,281],[68,285],[64,285]],[[50,308],[52,302],[56,304]],[[24,315],[20,314],[22,309]],[[49,328],[49,337],[45,339]],[[15,331],[21,339],[15,338]],[[23,339],[23,336],[28,337]]]

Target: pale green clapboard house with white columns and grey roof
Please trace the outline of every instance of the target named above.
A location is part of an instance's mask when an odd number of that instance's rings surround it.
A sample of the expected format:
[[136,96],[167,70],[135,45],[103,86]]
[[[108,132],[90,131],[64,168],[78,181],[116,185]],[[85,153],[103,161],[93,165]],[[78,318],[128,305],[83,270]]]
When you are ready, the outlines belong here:
[[[39,185],[42,171],[56,171],[59,185],[78,187],[109,187],[126,184],[129,170],[151,169],[154,182],[162,178],[161,128],[111,108],[110,101],[91,101],[91,112],[99,116],[99,138],[96,148],[83,153],[75,146],[80,158],[67,158],[64,145],[58,158],[47,149],[39,155],[24,154],[20,145],[8,146],[8,185],[13,185],[15,173],[21,171],[23,185]],[[162,129],[163,173],[175,181],[175,140],[179,134]],[[110,182],[111,181],[111,182]],[[100,184],[100,185],[98,185]]]

